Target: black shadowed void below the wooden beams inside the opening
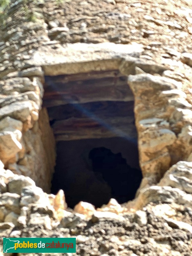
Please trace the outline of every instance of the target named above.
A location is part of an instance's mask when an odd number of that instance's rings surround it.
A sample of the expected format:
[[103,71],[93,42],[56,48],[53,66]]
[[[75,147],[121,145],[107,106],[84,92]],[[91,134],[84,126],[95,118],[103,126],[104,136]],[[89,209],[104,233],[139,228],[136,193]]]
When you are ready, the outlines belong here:
[[134,198],[140,185],[138,166],[137,143],[124,138],[60,141],[52,193],[63,189],[71,208],[79,201],[100,207],[110,198],[124,203]]

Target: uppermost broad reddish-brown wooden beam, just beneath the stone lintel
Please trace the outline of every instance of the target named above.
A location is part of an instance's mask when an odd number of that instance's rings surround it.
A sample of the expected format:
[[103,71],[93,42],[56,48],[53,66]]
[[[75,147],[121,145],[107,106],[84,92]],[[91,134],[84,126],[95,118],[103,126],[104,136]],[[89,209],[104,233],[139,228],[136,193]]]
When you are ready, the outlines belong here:
[[127,77],[117,71],[45,77],[43,106],[96,101],[132,101]]

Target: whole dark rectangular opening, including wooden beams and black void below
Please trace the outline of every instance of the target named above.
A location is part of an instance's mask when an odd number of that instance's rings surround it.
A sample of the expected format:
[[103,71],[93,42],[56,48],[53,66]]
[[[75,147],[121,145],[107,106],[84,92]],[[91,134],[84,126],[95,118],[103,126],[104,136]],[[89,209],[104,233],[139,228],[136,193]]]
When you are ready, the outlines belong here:
[[[119,203],[132,200],[142,175],[127,77],[118,70],[45,76],[44,89],[57,148],[52,193],[63,189],[71,208],[79,201],[100,207],[112,197]],[[96,170],[95,150],[102,148],[103,163]]]

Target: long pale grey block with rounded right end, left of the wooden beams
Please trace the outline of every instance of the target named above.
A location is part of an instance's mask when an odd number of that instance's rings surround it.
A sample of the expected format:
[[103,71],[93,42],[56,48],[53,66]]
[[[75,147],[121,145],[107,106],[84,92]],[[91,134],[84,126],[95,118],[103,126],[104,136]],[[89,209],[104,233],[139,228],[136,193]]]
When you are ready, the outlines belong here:
[[10,116],[25,122],[32,110],[31,102],[21,101],[10,104],[0,109],[0,118]]

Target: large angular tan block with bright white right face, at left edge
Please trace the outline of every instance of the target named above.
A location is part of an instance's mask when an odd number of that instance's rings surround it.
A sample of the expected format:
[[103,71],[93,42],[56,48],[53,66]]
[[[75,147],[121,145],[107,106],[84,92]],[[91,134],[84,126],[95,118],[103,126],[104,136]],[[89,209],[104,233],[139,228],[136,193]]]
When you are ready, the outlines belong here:
[[6,159],[14,157],[21,149],[22,146],[13,132],[0,132],[0,158],[3,163]]

